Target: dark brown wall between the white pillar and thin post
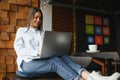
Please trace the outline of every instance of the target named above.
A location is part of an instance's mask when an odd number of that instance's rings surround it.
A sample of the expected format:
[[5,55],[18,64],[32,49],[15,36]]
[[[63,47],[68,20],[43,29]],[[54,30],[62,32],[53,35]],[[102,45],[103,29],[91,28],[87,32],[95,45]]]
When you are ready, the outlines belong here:
[[[52,29],[53,31],[74,32],[73,10],[71,8],[53,6],[52,8]],[[70,53],[74,51],[72,37]]]

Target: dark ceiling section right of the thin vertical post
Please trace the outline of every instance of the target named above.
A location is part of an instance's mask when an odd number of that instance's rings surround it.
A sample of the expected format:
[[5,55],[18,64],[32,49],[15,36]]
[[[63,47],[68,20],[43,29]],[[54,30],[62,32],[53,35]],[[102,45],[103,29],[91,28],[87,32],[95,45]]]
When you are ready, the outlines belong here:
[[116,13],[120,11],[119,0],[77,0],[76,5],[104,12]]

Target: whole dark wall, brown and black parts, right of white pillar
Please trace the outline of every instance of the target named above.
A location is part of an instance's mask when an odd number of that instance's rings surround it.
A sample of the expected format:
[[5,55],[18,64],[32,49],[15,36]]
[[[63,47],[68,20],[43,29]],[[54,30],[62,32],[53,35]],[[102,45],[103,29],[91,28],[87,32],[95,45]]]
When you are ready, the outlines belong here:
[[[110,44],[98,46],[101,51],[120,51],[120,15],[115,18],[108,13],[93,12],[87,10],[76,10],[76,52],[85,51],[87,47],[85,35],[85,14],[105,16],[110,21]],[[53,30],[74,32],[73,9],[53,6]],[[74,42],[73,42],[74,43]],[[72,50],[73,50],[72,45]]]

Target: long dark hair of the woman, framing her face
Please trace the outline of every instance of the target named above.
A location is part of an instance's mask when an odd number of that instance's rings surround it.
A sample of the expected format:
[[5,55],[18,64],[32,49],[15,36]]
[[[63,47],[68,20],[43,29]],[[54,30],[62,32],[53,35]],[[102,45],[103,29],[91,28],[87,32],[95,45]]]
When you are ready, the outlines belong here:
[[28,27],[28,30],[29,30],[30,20],[34,17],[36,12],[40,12],[41,13],[41,24],[38,25],[37,29],[42,31],[42,29],[43,29],[43,27],[42,27],[42,24],[43,24],[43,13],[42,13],[41,9],[37,8],[37,7],[31,8],[31,10],[30,10],[30,12],[28,14],[27,21],[26,21],[26,27]]

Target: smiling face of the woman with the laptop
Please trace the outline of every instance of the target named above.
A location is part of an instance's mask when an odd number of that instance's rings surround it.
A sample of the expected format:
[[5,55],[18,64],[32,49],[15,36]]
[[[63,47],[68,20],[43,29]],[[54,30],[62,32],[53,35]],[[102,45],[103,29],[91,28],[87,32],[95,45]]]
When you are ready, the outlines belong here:
[[41,17],[42,17],[41,13],[36,12],[35,15],[33,16],[33,18],[30,21],[30,26],[34,27],[34,28],[37,28],[38,25],[41,24]]

